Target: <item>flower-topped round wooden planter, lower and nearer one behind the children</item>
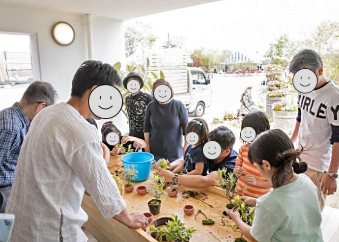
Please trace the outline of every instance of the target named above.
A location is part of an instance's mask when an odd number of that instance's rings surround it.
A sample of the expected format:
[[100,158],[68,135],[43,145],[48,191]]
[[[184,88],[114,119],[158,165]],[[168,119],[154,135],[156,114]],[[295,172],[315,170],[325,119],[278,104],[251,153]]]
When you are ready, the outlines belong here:
[[293,131],[297,114],[298,108],[294,104],[279,102],[272,106],[272,121],[275,124],[275,128],[286,133]]

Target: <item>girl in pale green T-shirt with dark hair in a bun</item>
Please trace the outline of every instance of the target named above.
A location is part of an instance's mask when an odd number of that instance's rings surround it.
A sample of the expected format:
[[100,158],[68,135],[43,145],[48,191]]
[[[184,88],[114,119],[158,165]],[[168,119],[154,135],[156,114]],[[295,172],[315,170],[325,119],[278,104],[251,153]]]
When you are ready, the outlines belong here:
[[255,205],[252,227],[242,221],[237,210],[228,211],[251,241],[323,241],[316,187],[309,177],[299,174],[307,170],[305,162],[297,161],[301,152],[281,130],[265,131],[251,144],[249,160],[274,188],[257,199],[242,197],[247,205]]

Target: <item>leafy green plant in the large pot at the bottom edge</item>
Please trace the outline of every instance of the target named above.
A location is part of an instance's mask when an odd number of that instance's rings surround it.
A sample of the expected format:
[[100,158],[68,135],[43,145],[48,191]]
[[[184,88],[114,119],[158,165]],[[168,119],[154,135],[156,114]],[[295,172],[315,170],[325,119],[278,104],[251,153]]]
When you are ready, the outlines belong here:
[[172,221],[166,222],[166,225],[160,228],[156,228],[154,225],[150,225],[151,231],[156,231],[156,239],[159,242],[174,241],[174,242],[188,242],[194,232],[195,228],[185,228],[185,224],[178,219],[177,215],[172,215]]

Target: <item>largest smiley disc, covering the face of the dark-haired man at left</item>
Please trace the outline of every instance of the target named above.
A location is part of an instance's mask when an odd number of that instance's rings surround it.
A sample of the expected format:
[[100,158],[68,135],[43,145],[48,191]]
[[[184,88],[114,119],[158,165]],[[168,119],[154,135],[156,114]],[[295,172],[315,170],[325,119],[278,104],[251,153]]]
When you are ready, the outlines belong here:
[[122,95],[112,85],[100,85],[89,94],[88,106],[98,118],[113,118],[122,108]]

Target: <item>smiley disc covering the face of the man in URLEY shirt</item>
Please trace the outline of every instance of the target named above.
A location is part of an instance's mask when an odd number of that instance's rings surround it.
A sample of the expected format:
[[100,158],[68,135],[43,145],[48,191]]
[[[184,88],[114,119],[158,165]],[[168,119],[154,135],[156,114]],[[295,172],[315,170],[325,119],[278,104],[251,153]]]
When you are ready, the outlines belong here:
[[309,93],[314,90],[318,78],[310,69],[300,69],[293,75],[293,86],[300,93]]

